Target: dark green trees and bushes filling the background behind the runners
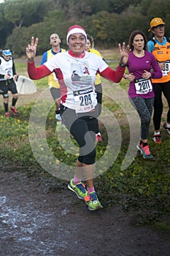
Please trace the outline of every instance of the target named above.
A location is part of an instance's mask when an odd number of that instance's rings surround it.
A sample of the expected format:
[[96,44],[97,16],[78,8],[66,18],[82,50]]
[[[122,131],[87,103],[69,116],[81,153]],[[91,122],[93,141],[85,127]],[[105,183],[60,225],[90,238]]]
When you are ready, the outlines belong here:
[[49,47],[49,37],[57,32],[66,48],[66,31],[79,23],[93,35],[100,48],[111,48],[128,42],[131,31],[141,29],[148,38],[150,20],[161,16],[170,34],[169,1],[163,0],[6,0],[0,4],[0,46],[11,48],[22,56],[31,36],[39,37],[38,54]]

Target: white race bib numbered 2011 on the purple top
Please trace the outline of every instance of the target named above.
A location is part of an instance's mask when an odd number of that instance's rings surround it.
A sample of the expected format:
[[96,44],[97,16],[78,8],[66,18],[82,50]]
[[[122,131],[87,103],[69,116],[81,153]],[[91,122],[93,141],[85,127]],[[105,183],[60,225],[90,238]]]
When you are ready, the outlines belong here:
[[135,80],[136,94],[148,94],[152,91],[152,83],[150,79],[139,78]]

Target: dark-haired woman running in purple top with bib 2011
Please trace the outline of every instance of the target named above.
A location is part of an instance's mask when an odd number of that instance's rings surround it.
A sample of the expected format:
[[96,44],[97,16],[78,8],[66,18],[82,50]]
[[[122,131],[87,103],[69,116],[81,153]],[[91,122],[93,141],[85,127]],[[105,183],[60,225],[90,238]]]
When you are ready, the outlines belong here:
[[124,78],[130,81],[128,97],[141,119],[141,138],[137,145],[144,159],[153,159],[147,144],[154,102],[151,78],[161,78],[161,69],[155,57],[147,51],[147,38],[142,31],[136,30],[129,38],[131,53],[128,57],[128,72]]

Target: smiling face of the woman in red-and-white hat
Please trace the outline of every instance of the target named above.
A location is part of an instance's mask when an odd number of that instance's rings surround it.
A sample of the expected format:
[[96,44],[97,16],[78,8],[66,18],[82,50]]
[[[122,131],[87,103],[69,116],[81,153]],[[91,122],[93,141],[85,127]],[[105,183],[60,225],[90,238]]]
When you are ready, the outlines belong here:
[[74,54],[81,54],[85,50],[86,40],[85,36],[81,33],[71,34],[69,36],[69,50],[72,50]]

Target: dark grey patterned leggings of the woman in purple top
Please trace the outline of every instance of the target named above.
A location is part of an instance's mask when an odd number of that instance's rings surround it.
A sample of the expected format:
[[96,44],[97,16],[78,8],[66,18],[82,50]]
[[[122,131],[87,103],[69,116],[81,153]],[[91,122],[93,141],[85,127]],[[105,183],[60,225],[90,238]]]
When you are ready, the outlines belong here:
[[146,140],[149,136],[150,119],[152,116],[152,106],[154,98],[134,97],[131,99],[132,105],[136,108],[141,119],[141,139]]

